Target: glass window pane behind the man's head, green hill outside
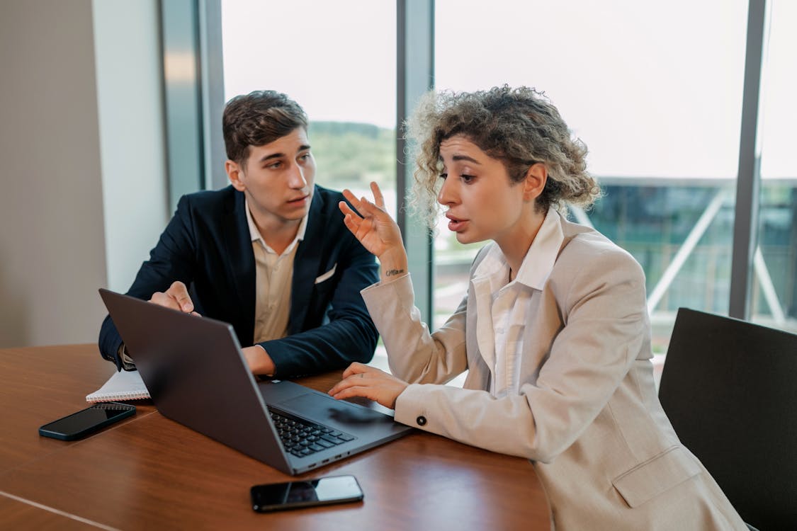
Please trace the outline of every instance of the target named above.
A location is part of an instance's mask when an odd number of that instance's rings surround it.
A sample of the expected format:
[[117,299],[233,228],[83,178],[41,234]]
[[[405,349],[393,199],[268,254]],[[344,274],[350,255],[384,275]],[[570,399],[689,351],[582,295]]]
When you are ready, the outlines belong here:
[[[310,119],[316,183],[371,197],[375,181],[395,217],[394,2],[222,0],[222,46],[226,100],[285,92]],[[381,344],[373,363],[387,369]]]

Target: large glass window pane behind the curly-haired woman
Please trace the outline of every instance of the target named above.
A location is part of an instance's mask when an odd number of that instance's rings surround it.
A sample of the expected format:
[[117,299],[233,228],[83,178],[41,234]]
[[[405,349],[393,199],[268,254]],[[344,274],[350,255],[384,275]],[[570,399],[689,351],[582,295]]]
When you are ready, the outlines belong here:
[[[728,310],[747,2],[437,0],[435,20],[438,88],[543,90],[589,147],[606,196],[572,216],[642,264],[661,366],[679,306]],[[441,226],[435,250],[445,318],[475,249]]]

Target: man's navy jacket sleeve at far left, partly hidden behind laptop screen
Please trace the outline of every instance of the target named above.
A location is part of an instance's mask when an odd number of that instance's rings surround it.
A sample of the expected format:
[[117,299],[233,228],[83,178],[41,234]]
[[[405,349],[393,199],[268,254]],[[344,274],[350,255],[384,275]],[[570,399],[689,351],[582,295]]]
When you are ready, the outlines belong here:
[[[177,212],[169,221],[161,234],[158,244],[150,252],[150,258],[141,265],[135,276],[128,295],[138,299],[149,299],[155,291],[166,291],[175,280],[190,285],[196,264],[196,242],[191,227],[191,215],[188,199],[182,197],[177,205]],[[107,315],[100,327],[100,353],[102,357],[116,364],[121,369],[118,356],[122,344],[116,325]]]

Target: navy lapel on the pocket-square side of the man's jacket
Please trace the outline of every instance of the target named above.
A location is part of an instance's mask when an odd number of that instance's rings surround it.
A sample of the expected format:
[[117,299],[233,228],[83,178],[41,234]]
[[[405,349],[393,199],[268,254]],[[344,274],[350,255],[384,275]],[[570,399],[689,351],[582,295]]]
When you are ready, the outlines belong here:
[[291,285],[291,312],[289,328],[291,334],[301,331],[304,318],[310,305],[310,297],[316,283],[316,273],[321,262],[321,252],[324,249],[324,219],[322,208],[324,198],[316,188],[312,194],[310,213],[307,228],[304,231],[304,240],[296,248],[293,258],[293,282]]

